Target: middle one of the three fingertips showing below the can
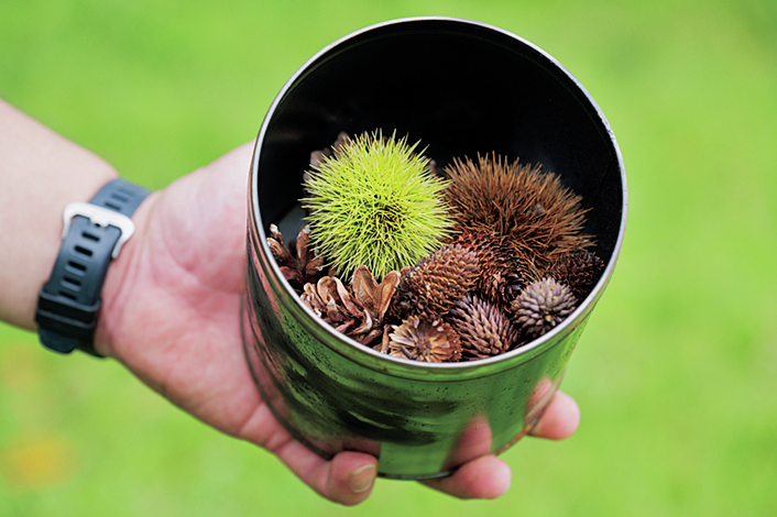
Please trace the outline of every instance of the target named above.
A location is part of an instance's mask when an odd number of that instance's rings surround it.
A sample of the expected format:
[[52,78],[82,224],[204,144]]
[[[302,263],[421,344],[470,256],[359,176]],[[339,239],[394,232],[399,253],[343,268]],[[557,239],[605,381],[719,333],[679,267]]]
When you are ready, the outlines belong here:
[[464,463],[448,477],[422,483],[461,499],[495,499],[507,492],[512,477],[510,466],[489,454]]

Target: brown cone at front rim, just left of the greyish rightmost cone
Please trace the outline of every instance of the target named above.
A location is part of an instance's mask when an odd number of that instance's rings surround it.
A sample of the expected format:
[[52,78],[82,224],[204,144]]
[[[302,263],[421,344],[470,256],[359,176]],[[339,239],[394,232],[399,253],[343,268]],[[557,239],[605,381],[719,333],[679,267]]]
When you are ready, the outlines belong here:
[[448,315],[448,322],[461,340],[461,356],[485,359],[507,352],[518,344],[519,333],[494,305],[477,296],[460,299]]

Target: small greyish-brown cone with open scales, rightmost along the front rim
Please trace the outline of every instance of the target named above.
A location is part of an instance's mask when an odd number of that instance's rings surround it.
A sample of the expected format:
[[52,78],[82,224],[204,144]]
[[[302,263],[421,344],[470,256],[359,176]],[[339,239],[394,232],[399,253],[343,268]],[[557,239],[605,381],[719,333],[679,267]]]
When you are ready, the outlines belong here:
[[534,282],[512,304],[514,321],[527,339],[550,331],[576,308],[577,300],[568,286],[554,278]]

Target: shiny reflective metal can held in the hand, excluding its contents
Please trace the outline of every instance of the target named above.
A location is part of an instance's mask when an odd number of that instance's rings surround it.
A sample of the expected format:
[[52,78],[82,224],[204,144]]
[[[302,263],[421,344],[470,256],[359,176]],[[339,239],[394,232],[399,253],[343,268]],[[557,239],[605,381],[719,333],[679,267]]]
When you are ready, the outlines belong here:
[[[583,196],[587,232],[608,262],[593,293],[533,343],[468,363],[382,355],[319,320],[283,278],[265,231],[300,227],[310,151],[377,128],[420,140],[440,166],[493,151],[559,174]],[[493,26],[425,18],[358,31],[297,70],[260,130],[249,205],[243,341],[262,396],[320,455],[365,451],[380,475],[425,479],[501,452],[536,424],[612,276],[626,183],[604,116],[555,59]]]

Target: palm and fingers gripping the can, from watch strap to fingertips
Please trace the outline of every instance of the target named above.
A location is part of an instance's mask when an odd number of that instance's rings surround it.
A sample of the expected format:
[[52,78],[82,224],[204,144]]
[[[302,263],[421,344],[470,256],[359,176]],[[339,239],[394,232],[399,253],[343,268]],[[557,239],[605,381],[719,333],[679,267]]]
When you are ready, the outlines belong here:
[[[136,233],[106,278],[96,349],[204,422],[275,453],[322,496],[357,504],[372,490],[375,458],[346,451],[327,461],[305,448],[264,404],[243,355],[251,150],[238,147],[141,205]],[[566,438],[579,417],[574,400],[558,393],[532,433]],[[424,483],[457,497],[494,498],[510,481],[507,464],[485,455]]]

